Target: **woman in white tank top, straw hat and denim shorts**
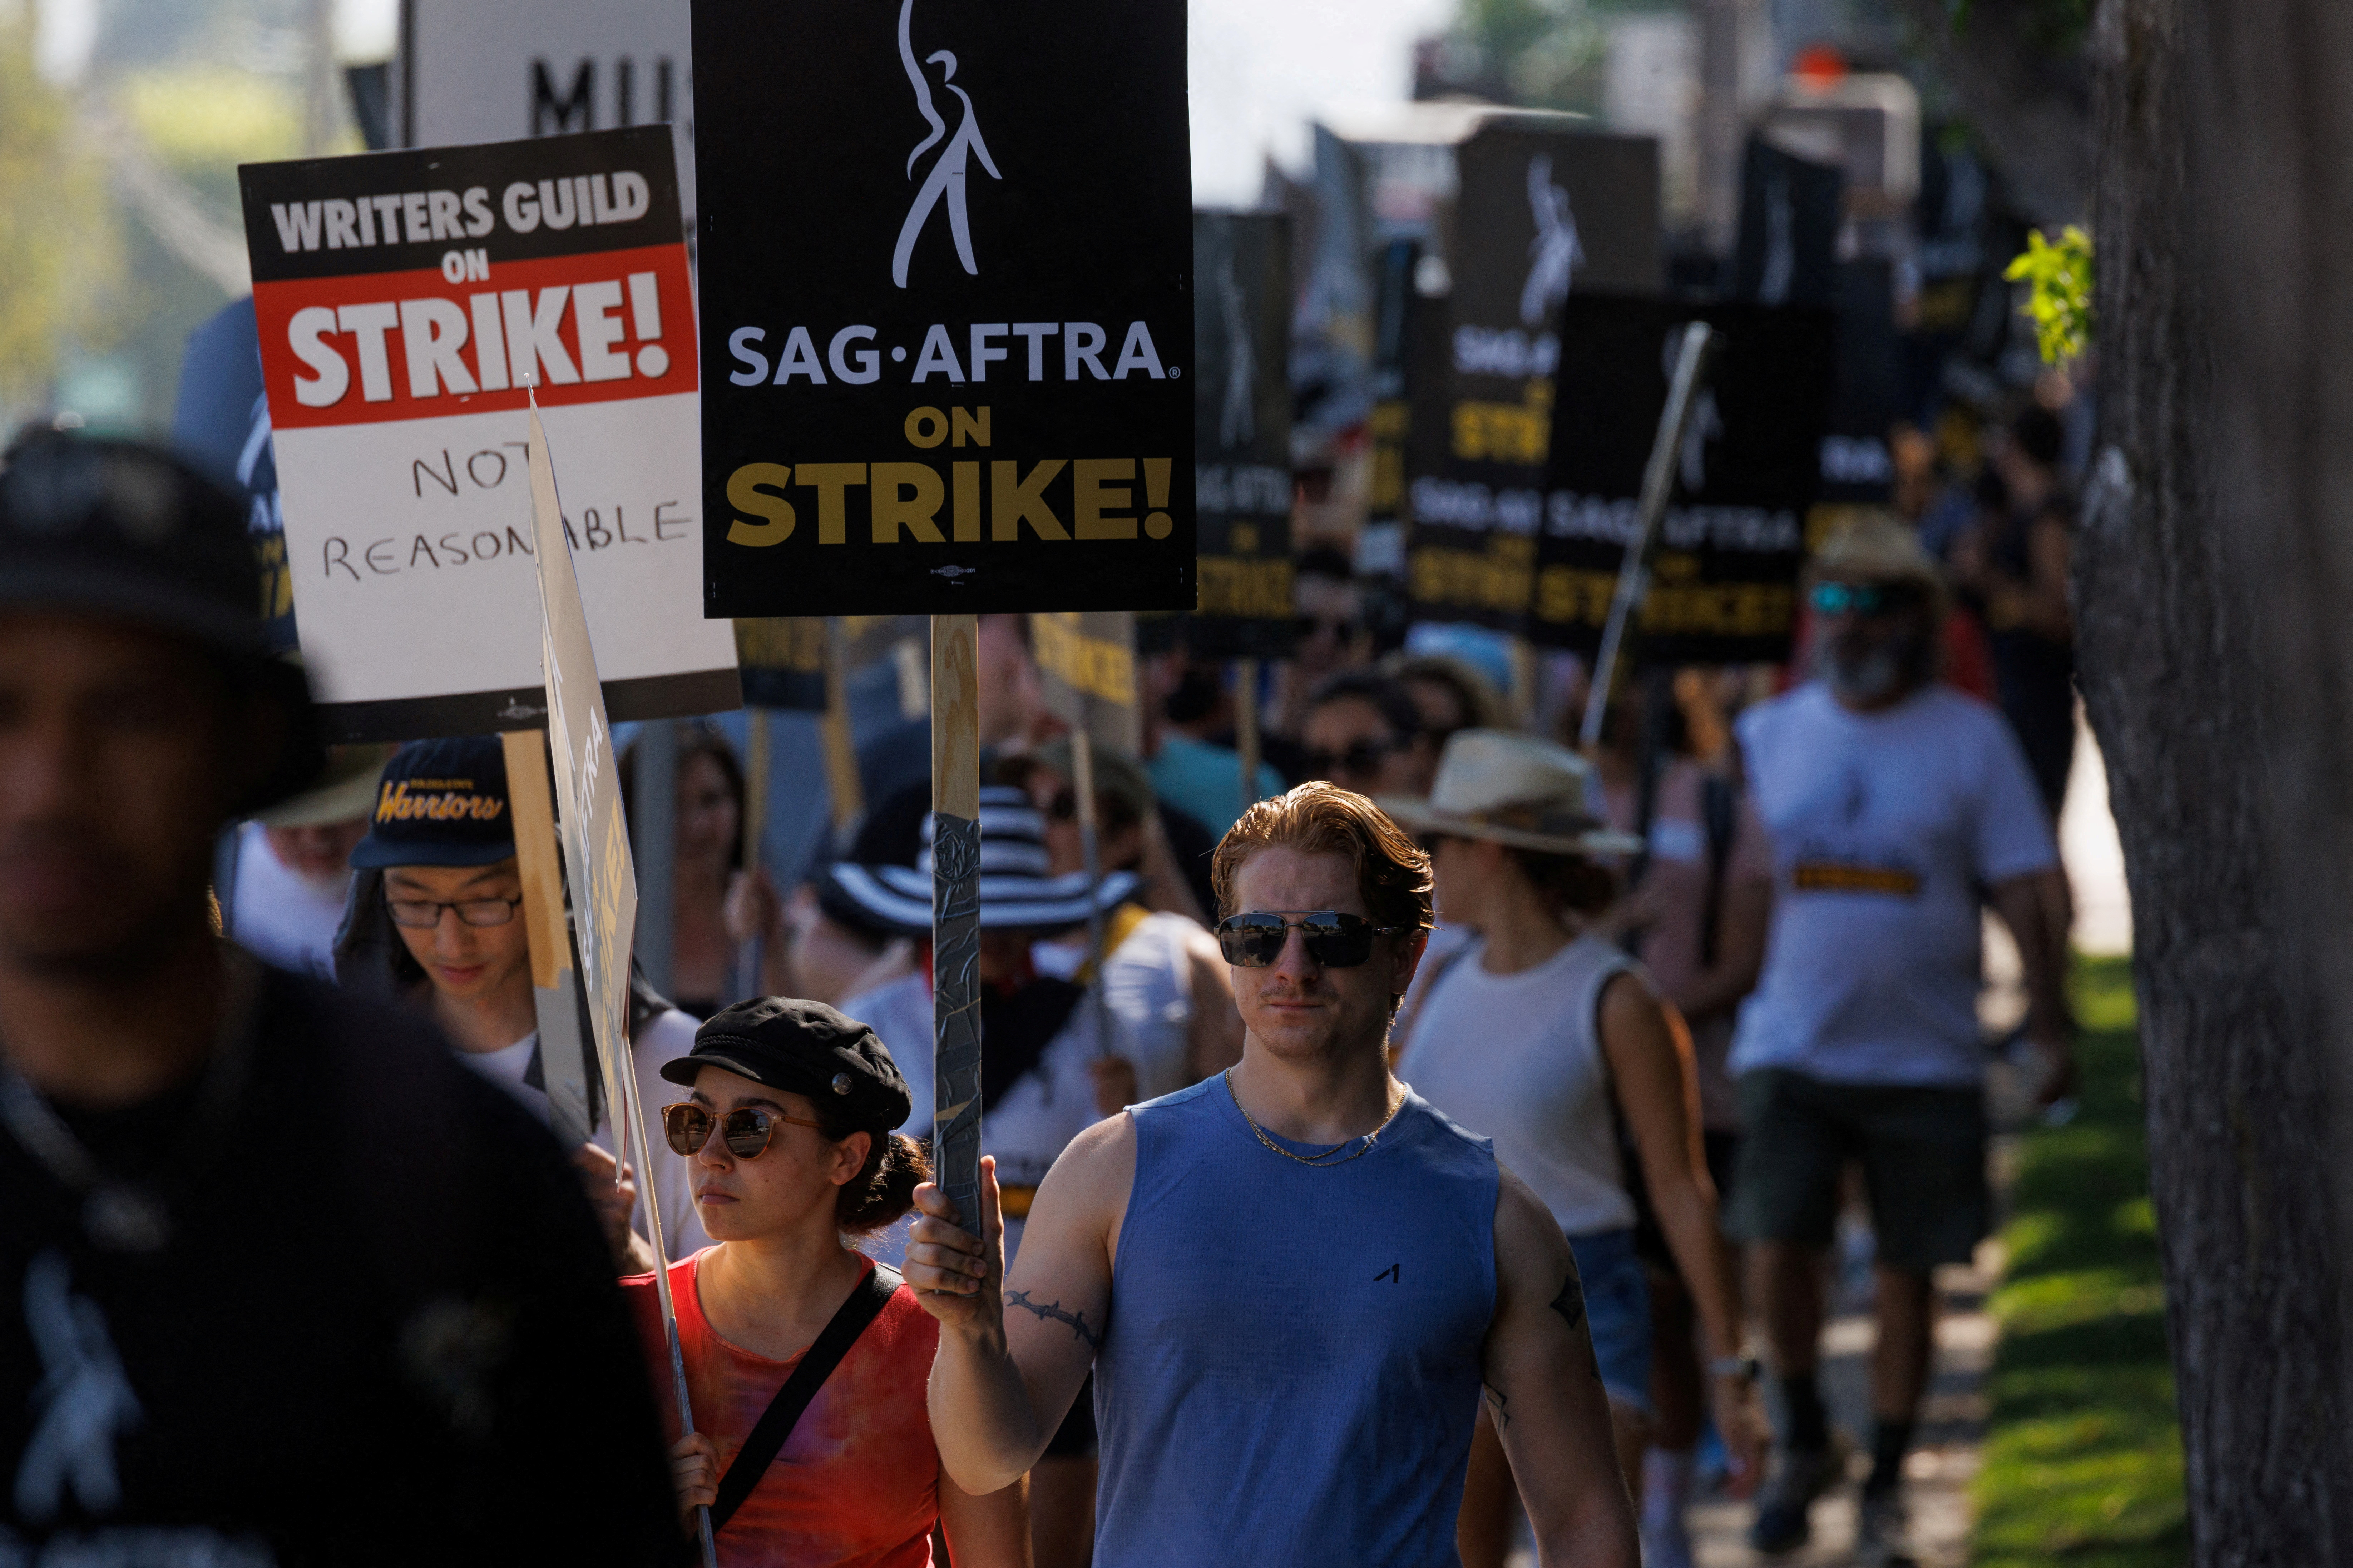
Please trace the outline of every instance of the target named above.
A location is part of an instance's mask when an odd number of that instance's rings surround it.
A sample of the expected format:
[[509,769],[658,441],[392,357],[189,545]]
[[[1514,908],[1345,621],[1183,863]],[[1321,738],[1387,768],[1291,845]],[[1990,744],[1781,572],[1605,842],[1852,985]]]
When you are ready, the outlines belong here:
[[[1612,875],[1591,856],[1638,846],[1607,832],[1586,762],[1501,731],[1447,741],[1428,799],[1384,799],[1421,832],[1440,919],[1480,933],[1400,1020],[1398,1077],[1473,1133],[1546,1201],[1577,1253],[1619,1460],[1640,1495],[1649,1436],[1649,1286],[1633,1251],[1617,1124],[1642,1159],[1649,1204],[1699,1305],[1715,1420],[1753,1483],[1762,1422],[1741,1359],[1739,1298],[1715,1229],[1689,1041],[1642,969],[1586,931]],[[1485,1422],[1471,1448],[1466,1568],[1501,1563],[1511,1479]]]

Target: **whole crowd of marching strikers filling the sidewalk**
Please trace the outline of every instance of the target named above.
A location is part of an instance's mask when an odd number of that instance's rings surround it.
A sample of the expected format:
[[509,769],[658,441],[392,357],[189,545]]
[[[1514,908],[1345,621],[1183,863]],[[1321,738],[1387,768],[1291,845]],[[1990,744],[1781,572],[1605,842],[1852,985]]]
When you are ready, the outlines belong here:
[[[1798,665],[1642,682],[1595,752],[1308,555],[1268,684],[1141,661],[1092,875],[1026,621],[981,618],[958,1213],[922,748],[871,738],[873,806],[779,877],[680,729],[645,1126],[600,1088],[558,1147],[501,741],[322,748],[242,508],[21,440],[0,1561],[1631,1568],[1704,1488],[1779,1554],[1849,1479],[1897,1561],[1934,1269],[1988,1227],[1988,910],[2071,1072],[2064,759],[1962,689],[1986,583],[2040,635],[2019,541],[1849,520]],[[1817,1380],[1854,1234],[1859,1446]]]

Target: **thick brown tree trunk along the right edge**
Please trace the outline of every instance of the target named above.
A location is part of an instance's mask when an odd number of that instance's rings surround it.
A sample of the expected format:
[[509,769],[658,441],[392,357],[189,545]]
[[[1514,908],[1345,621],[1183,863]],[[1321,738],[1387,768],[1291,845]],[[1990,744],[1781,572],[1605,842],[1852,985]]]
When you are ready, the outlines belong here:
[[2104,0],[2094,31],[2104,428],[2080,682],[2132,882],[2200,1568],[2353,1561],[2332,1138],[2353,1018],[2341,9]]

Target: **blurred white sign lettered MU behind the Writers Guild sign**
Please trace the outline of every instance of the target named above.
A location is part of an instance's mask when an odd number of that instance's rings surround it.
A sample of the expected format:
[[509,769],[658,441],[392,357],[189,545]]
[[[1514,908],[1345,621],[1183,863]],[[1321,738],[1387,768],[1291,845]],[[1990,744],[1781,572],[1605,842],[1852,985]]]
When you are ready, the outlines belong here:
[[673,127],[694,219],[687,0],[405,0],[400,141],[412,148]]

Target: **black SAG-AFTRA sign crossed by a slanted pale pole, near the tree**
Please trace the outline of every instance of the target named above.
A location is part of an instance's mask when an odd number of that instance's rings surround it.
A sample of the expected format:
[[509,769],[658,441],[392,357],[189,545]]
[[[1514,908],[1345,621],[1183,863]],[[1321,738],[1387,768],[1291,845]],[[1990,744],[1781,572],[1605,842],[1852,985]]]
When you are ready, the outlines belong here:
[[1537,642],[1584,654],[1600,644],[1635,538],[1671,355],[1692,320],[1718,329],[1718,360],[1675,454],[1633,658],[1788,656],[1835,322],[1826,310],[1652,299],[1577,296],[1560,313],[1560,393],[1527,623]]

